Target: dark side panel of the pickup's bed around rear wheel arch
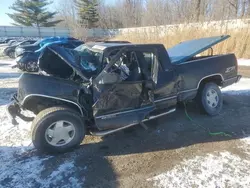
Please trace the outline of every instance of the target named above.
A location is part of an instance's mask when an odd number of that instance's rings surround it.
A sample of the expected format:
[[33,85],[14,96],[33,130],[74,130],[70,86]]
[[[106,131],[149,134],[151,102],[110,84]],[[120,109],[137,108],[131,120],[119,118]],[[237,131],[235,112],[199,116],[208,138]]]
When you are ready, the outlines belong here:
[[181,80],[178,92],[181,97],[196,95],[201,81],[211,76],[216,76],[221,87],[237,80],[238,65],[234,54],[194,58],[174,67]]

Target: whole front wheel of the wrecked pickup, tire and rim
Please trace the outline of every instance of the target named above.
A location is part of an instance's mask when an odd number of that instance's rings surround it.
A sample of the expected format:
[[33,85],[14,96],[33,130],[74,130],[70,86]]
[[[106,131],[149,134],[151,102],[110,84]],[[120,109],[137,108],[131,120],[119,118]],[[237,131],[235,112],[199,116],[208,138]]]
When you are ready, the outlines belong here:
[[32,123],[32,142],[43,152],[66,152],[79,146],[84,137],[84,121],[79,113],[69,108],[45,109]]

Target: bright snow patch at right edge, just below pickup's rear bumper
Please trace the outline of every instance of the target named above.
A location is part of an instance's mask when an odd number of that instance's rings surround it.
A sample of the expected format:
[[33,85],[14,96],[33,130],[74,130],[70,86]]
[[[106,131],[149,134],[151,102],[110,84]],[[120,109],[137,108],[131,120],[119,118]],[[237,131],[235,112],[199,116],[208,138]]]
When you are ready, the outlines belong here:
[[232,95],[250,95],[250,79],[242,78],[238,83],[223,88],[222,92]]

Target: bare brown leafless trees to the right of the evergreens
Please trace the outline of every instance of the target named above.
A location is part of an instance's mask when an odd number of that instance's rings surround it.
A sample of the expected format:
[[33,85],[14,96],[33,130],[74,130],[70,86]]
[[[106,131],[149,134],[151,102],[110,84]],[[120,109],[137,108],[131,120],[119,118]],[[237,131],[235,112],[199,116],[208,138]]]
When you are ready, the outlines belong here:
[[250,16],[250,0],[116,0],[99,6],[100,27],[157,26]]

